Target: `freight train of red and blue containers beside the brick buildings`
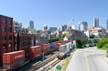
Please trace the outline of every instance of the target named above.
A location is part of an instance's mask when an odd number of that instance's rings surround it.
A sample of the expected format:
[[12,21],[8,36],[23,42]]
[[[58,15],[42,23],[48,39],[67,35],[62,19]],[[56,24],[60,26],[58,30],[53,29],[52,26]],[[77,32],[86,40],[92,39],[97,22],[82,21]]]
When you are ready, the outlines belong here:
[[[52,52],[54,50],[58,50],[59,47],[64,44],[64,42],[52,42],[48,44],[42,44],[41,46],[32,46],[29,48],[28,53],[30,53],[29,62],[32,60],[35,60],[42,56],[43,53],[47,54],[49,52]],[[3,54],[3,67],[8,70],[15,70],[18,67],[21,67],[24,65],[26,60],[26,54],[28,54],[25,50],[19,50],[9,53]]]

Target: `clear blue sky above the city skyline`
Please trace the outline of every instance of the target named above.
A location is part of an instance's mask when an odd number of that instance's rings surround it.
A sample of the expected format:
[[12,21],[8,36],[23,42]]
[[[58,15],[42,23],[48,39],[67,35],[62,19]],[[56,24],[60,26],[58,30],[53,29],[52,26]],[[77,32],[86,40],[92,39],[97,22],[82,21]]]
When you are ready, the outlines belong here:
[[36,29],[42,29],[44,24],[78,28],[82,21],[93,26],[94,17],[98,17],[99,25],[106,28],[108,0],[0,0],[0,14],[13,17],[24,27],[33,20]]

